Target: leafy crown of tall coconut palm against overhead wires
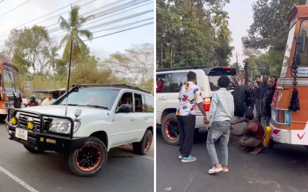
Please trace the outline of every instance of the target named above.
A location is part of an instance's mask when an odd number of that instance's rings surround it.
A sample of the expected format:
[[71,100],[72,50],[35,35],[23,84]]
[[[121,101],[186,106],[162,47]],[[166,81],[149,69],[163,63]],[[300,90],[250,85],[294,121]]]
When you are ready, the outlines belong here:
[[62,59],[69,61],[71,51],[71,40],[73,40],[72,53],[74,53],[73,61],[78,60],[81,47],[86,47],[80,36],[85,36],[87,39],[93,38],[93,33],[89,30],[82,29],[82,26],[90,19],[94,18],[94,15],[82,17],[79,15],[79,6],[71,6],[71,12],[69,13],[69,19],[65,20],[62,16],[59,17],[60,27],[67,31],[67,34],[63,37],[59,47],[66,43]]

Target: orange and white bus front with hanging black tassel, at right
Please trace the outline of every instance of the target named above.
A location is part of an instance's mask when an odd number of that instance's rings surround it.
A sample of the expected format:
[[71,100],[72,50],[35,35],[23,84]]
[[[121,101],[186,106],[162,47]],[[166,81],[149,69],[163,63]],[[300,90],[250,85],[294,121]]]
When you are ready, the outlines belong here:
[[271,104],[272,139],[308,146],[308,5],[295,6],[280,78]]

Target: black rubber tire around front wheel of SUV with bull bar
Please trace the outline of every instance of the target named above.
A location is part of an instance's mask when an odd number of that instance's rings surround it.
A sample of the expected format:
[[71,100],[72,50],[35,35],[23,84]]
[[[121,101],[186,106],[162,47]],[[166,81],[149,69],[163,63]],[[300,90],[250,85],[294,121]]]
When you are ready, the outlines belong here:
[[103,143],[103,141],[101,141],[100,139],[98,139],[96,137],[90,136],[87,139],[87,141],[84,144],[84,146],[85,145],[89,145],[89,144],[95,145],[96,147],[98,147],[99,151],[101,153],[101,160],[100,160],[98,166],[95,169],[90,170],[90,171],[84,171],[84,170],[79,169],[79,167],[77,166],[77,163],[76,163],[76,155],[77,155],[79,149],[71,151],[71,153],[70,153],[70,155],[68,157],[68,165],[70,167],[70,170],[74,174],[76,174],[78,176],[81,176],[81,177],[91,177],[91,176],[94,176],[95,174],[99,173],[99,171],[104,167],[104,165],[107,162],[107,147]]

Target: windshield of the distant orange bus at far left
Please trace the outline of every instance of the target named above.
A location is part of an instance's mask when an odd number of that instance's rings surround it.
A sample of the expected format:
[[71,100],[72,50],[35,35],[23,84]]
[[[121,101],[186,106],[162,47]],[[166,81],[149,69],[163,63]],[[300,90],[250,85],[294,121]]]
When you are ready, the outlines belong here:
[[20,92],[18,75],[7,69],[2,70],[4,90]]

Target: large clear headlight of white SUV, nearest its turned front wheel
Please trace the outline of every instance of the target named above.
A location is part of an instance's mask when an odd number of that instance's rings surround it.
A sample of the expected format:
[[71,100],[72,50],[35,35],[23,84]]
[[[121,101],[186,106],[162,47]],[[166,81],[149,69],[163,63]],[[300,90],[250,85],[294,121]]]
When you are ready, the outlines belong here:
[[[74,122],[74,133],[77,131],[77,129],[80,126],[79,121]],[[49,131],[57,132],[57,133],[64,133],[69,134],[71,131],[71,122],[67,120],[52,120]]]

